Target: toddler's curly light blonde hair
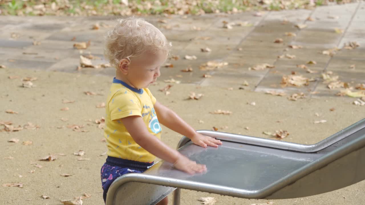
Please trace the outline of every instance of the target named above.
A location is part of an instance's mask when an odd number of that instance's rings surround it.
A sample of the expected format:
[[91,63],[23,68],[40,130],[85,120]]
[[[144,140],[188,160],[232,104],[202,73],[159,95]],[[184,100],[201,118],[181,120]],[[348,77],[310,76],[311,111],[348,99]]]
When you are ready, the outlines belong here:
[[169,53],[171,43],[158,28],[141,18],[118,19],[115,27],[105,36],[104,56],[115,68],[122,59],[165,50]]

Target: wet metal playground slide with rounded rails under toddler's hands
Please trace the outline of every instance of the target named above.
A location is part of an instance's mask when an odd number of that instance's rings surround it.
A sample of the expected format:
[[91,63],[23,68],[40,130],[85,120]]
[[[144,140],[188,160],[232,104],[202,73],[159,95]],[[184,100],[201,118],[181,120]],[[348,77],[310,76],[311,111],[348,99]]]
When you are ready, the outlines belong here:
[[[330,192],[365,179],[365,119],[311,145],[216,131],[198,131],[223,141],[202,148],[183,137],[178,151],[207,173],[189,175],[168,162],[145,173],[116,179],[107,205],[154,205],[180,188],[240,198],[283,199]],[[335,179],[335,180],[334,180]]]

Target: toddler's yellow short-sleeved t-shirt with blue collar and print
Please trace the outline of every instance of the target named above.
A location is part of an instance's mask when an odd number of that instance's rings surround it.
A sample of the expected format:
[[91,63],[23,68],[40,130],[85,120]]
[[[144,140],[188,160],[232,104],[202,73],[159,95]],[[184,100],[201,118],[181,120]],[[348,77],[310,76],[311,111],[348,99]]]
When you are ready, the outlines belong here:
[[153,108],[155,102],[156,98],[148,88],[132,88],[114,78],[105,104],[104,137],[107,142],[108,156],[139,162],[153,162],[155,156],[133,140],[120,119],[132,115],[141,116],[150,134],[161,139],[162,128]]

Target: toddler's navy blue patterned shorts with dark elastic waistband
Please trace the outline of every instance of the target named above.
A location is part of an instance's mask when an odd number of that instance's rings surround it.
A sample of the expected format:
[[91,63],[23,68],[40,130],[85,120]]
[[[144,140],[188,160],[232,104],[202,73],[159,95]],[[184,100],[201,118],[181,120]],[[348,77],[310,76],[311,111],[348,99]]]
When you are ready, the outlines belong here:
[[142,173],[152,165],[154,165],[154,162],[137,162],[108,156],[100,171],[104,202],[107,200],[109,187],[116,178],[128,173]]

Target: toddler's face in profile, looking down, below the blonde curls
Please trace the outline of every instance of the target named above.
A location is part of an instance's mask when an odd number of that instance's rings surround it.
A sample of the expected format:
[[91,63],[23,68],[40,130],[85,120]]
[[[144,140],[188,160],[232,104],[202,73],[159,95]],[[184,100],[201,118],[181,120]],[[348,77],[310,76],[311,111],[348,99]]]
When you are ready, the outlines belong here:
[[167,52],[159,50],[156,53],[145,52],[143,55],[131,58],[128,70],[128,81],[136,88],[147,88],[160,76],[160,67],[167,59]]

